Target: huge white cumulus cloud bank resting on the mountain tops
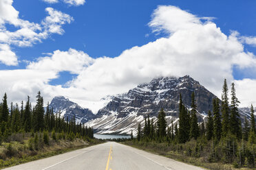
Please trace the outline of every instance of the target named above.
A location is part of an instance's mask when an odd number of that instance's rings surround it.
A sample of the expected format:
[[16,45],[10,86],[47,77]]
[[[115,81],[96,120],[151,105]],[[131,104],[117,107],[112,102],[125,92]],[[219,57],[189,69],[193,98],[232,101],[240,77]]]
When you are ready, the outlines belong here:
[[[233,78],[233,66],[246,69],[255,68],[256,64],[254,54],[244,51],[235,34],[226,35],[211,18],[200,18],[174,6],[158,6],[149,26],[153,32],[166,32],[169,36],[127,49],[116,58],[92,59],[83,51],[57,50],[28,64],[23,74],[32,74],[29,83],[23,77],[24,80],[1,84],[0,89],[7,88],[11,94],[23,93],[24,87],[29,94],[42,90],[46,101],[54,95],[66,95],[86,107],[87,101],[96,103],[106,95],[125,93],[154,77],[191,75],[219,97],[224,78],[228,84],[235,82],[241,106],[256,104],[255,80]],[[66,88],[51,86],[50,80],[58,77],[60,71],[78,76]],[[3,74],[13,80],[17,77],[12,72]]]

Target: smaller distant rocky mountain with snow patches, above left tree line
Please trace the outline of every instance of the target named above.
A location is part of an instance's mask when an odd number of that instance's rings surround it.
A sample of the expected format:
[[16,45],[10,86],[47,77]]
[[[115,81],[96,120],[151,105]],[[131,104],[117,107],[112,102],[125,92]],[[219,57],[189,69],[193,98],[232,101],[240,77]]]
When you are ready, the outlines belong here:
[[86,123],[89,120],[95,119],[96,115],[92,113],[88,108],[81,108],[78,104],[70,101],[66,97],[57,96],[52,99],[50,108],[53,108],[54,113],[61,113],[61,116],[67,120],[73,119],[75,117],[76,122]]

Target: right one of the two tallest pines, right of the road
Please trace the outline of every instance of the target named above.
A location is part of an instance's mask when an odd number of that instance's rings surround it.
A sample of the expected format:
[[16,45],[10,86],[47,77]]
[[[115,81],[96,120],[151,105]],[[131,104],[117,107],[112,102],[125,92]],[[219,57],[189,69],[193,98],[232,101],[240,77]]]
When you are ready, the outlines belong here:
[[235,84],[232,83],[231,85],[231,117],[230,117],[230,129],[231,134],[234,134],[237,136],[237,138],[242,138],[242,125],[241,121],[239,119],[240,114],[238,112],[238,104],[240,102],[238,101],[236,95],[235,95]]

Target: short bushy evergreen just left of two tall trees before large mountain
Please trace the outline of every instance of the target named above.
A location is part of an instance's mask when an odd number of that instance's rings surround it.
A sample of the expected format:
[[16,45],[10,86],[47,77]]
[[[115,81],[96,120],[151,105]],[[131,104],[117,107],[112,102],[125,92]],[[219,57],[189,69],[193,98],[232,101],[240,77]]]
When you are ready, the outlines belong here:
[[165,112],[164,109],[162,108],[158,114],[158,136],[160,138],[164,137],[167,135],[167,121],[165,120]]

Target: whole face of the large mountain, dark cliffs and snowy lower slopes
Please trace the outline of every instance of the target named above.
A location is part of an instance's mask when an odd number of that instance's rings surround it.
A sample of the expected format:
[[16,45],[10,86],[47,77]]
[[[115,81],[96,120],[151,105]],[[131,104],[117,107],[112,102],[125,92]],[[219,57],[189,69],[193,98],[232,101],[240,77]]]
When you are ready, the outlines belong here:
[[[180,94],[187,108],[191,105],[192,92],[198,106],[198,120],[203,121],[206,112],[212,110],[213,93],[199,82],[184,77],[159,77],[148,84],[140,84],[128,93],[116,95],[107,106],[96,114],[97,119],[88,122],[99,133],[129,133],[136,131],[138,123],[149,115],[156,119],[161,108],[167,114],[167,124],[178,121]],[[135,132],[136,133],[136,132]]]

